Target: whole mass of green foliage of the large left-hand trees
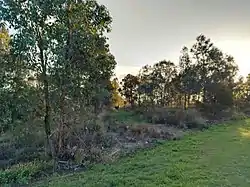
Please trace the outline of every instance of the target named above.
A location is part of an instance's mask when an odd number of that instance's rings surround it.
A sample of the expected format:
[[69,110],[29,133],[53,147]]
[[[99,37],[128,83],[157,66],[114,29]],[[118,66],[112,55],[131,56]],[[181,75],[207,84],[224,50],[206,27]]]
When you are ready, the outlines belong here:
[[[110,31],[112,19],[106,7],[94,0],[2,1],[0,15],[15,30],[10,52],[4,54],[9,58],[1,58],[8,70],[7,74],[0,72],[0,78],[4,77],[0,82],[2,131],[18,128],[17,136],[26,143],[25,135],[36,135],[33,129],[26,133],[27,126],[38,122],[41,127],[43,123],[46,151],[56,157],[71,143],[62,130],[74,123],[67,119],[69,113],[89,106],[94,107],[91,112],[99,113],[110,102],[109,81],[116,62],[105,33]],[[1,29],[4,45],[7,36]],[[92,125],[88,128],[98,133],[95,123]],[[54,153],[49,142],[57,129],[61,132],[53,139],[58,141]]]

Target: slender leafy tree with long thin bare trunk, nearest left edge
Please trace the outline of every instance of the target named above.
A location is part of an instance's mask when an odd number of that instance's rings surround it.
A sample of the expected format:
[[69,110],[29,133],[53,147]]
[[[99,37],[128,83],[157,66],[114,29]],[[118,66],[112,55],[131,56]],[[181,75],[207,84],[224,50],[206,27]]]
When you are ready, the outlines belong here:
[[50,96],[48,68],[53,62],[51,48],[54,45],[50,36],[51,22],[56,4],[47,1],[3,1],[1,19],[15,29],[12,48],[14,55],[22,59],[31,71],[41,75],[45,103],[44,129],[47,144],[51,134]]

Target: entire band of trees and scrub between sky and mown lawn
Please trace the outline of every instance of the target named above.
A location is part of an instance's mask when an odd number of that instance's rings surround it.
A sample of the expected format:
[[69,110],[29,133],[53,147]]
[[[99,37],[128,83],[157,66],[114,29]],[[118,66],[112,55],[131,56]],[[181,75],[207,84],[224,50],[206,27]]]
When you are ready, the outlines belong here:
[[0,184],[88,170],[250,115],[250,74],[237,79],[234,58],[202,34],[179,62],[119,82],[112,18],[96,1],[4,0],[0,20]]

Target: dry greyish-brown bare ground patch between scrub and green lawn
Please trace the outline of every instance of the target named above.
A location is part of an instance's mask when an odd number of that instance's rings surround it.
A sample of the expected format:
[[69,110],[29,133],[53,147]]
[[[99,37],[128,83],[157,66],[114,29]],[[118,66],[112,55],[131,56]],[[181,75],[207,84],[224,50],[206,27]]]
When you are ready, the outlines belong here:
[[109,158],[113,160],[138,149],[153,147],[162,140],[179,140],[185,133],[183,129],[162,124],[123,124],[115,132],[108,133],[116,140],[113,148],[109,150]]

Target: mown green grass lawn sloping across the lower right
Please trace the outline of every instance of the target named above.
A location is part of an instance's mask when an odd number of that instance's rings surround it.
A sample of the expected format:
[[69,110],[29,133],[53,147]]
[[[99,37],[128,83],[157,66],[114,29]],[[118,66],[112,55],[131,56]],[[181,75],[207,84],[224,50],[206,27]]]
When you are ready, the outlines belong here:
[[250,120],[220,125],[43,186],[249,187]]

